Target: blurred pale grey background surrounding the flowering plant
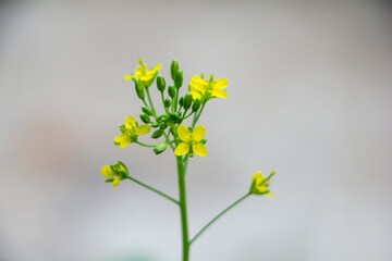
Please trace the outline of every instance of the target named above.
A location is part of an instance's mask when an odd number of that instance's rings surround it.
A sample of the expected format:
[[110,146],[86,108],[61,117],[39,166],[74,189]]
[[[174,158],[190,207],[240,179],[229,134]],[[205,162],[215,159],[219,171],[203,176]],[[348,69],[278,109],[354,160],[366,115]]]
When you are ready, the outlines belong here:
[[192,235],[256,170],[278,173],[275,198],[229,212],[193,261],[392,260],[391,14],[378,1],[2,2],[0,260],[181,259],[176,206],[100,174],[122,160],[177,197],[171,151],[113,145],[139,113],[123,80],[138,58],[230,82],[199,121]]

